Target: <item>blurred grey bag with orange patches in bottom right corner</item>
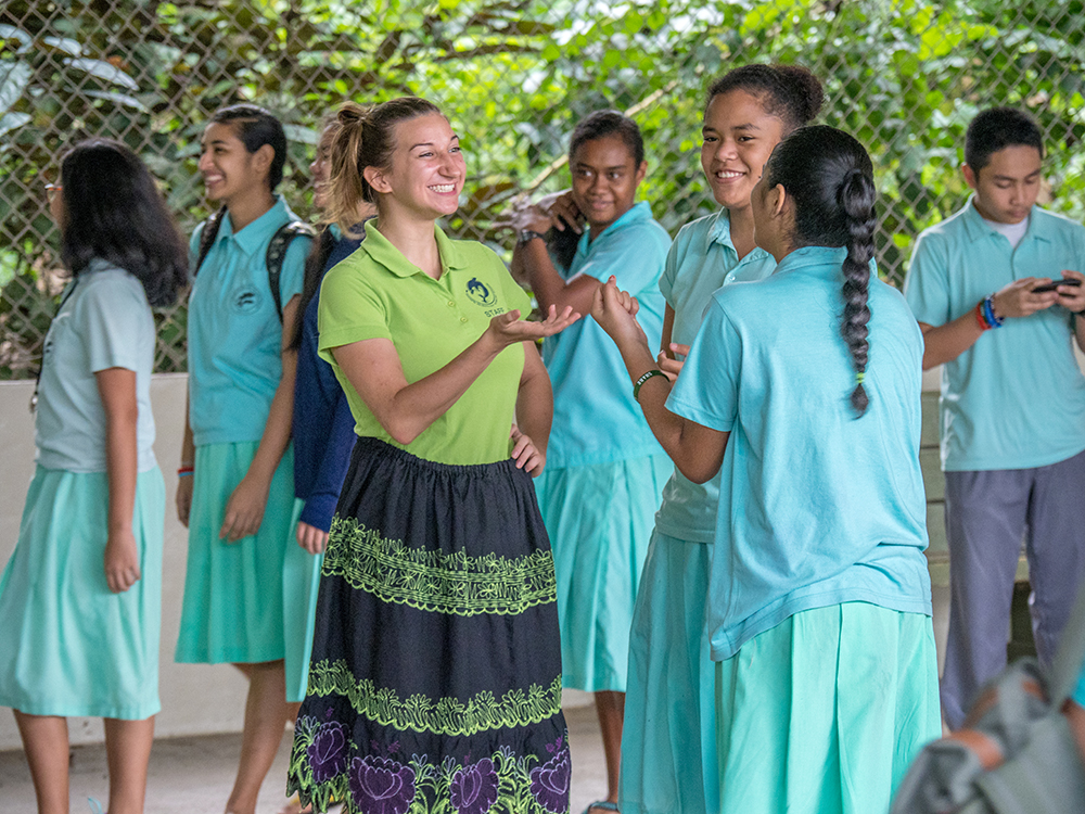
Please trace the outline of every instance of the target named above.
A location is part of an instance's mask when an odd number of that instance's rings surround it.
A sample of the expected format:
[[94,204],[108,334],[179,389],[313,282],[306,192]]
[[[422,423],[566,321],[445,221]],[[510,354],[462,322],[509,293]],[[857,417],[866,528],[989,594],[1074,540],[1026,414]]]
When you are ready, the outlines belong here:
[[1035,659],[1006,667],[984,687],[960,730],[919,753],[890,814],[1085,812],[1085,765],[1062,714],[1083,660],[1085,590],[1050,674]]

